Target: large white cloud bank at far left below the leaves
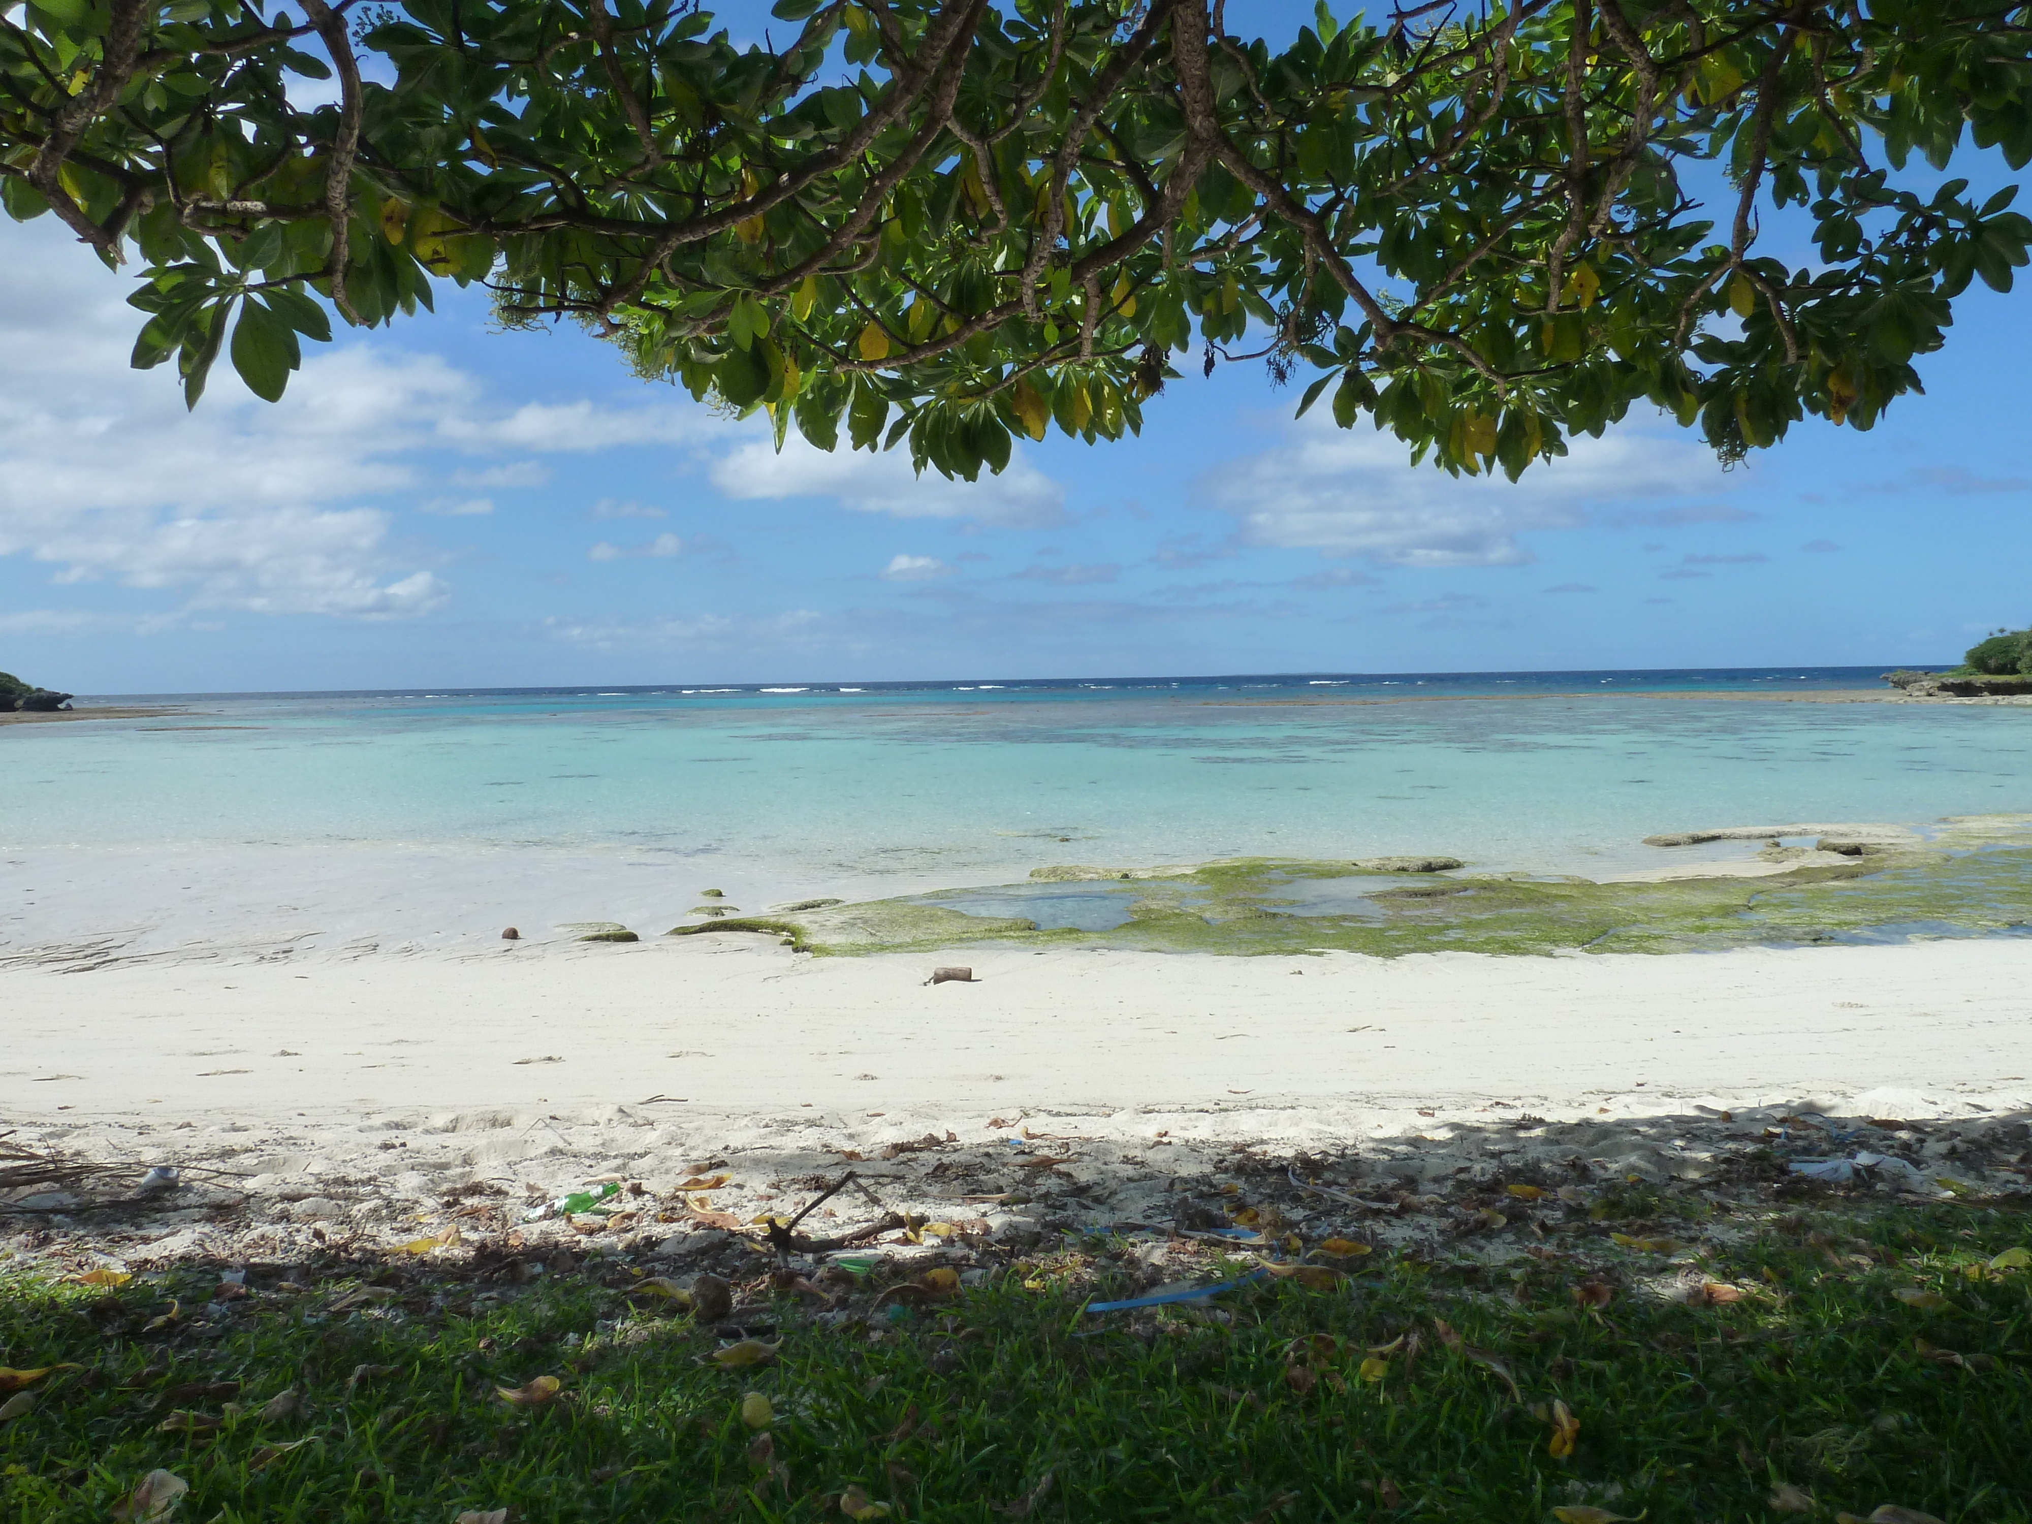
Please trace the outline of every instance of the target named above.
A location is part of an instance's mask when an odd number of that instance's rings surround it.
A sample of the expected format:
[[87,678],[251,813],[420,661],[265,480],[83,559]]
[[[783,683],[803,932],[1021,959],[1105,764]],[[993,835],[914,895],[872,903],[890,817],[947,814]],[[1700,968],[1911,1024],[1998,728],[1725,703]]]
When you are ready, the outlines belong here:
[[[681,400],[506,408],[480,378],[380,341],[309,345],[278,404],[221,364],[187,412],[167,370],[128,368],[130,287],[55,217],[0,221],[0,557],[45,563],[59,585],[165,593],[146,618],[429,614],[449,595],[445,557],[396,545],[392,512],[362,502],[423,490],[417,506],[431,514],[494,504],[429,492],[427,453],[482,457],[453,473],[469,494],[541,484],[549,467],[528,459],[538,451],[669,443],[707,427]],[[484,459],[496,453],[520,459]]]

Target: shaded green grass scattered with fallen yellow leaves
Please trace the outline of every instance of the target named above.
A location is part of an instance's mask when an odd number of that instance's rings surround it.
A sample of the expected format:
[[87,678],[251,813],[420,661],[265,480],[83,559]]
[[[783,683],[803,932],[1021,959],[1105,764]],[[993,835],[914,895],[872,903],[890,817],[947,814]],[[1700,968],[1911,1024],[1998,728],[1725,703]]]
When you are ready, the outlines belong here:
[[[0,1363],[81,1370],[43,1378],[37,1406],[0,1426],[0,1520],[98,1524],[167,1467],[191,1485],[179,1516],[207,1524],[451,1524],[492,1508],[547,1524],[776,1524],[839,1518],[847,1487],[894,1518],[992,1524],[1046,1475],[1030,1518],[1522,1522],[1593,1504],[1727,1524],[1782,1518],[1768,1498],[1784,1481],[1823,1518],[1898,1504],[2026,1524],[2028,1274],[1969,1272],[2032,1244],[2032,1223],[1843,1211],[1772,1219],[1693,1266],[1615,1248],[1607,1223],[1528,1240],[1508,1266],[1376,1256],[1325,1290],[1229,1292],[1211,1317],[1085,1315],[1134,1262],[1083,1240],[902,1321],[876,1311],[874,1339],[778,1296],[776,1357],[736,1372],[701,1363],[709,1329],[630,1300],[640,1272],[620,1262],[528,1286],[484,1266],[256,1266],[254,1294],[211,1315],[215,1266],[118,1290],[14,1274],[0,1280]],[[1678,1270],[1748,1294],[1660,1296]],[[274,1290],[284,1274],[305,1288]],[[394,1296],[327,1311],[362,1274]],[[1599,1311],[1573,1294],[1591,1278],[1613,1288]],[[874,1290],[849,1307],[868,1313]],[[171,1300],[179,1315],[150,1331]],[[1500,1361],[1522,1400],[1441,1325]],[[1366,1380],[1366,1351],[1406,1335],[1416,1353],[1406,1339]],[[536,1376],[561,1378],[563,1396],[496,1396]],[[197,1382],[238,1392],[173,1394]],[[301,1414],[254,1416],[284,1388],[303,1392]],[[774,1404],[762,1445],[740,1416],[748,1392]],[[228,1396],[246,1412],[226,1416]],[[1579,1418],[1569,1459],[1548,1453],[1554,1400]],[[163,1433],[179,1408],[224,1426]],[[297,1439],[313,1443],[258,1463]]]

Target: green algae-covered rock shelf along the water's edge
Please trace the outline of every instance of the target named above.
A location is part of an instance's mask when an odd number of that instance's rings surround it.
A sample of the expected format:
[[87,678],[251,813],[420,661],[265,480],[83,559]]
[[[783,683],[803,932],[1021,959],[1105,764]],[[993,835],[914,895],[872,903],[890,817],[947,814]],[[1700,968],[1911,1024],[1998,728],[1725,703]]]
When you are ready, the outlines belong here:
[[[1597,884],[1528,874],[1406,872],[1394,862],[1237,858],[1197,868],[1051,868],[1034,916],[969,914],[935,898],[677,927],[756,931],[823,955],[963,943],[1290,957],[1323,951],[1548,955],[1985,937],[2032,929],[2032,817],[1967,817],[1914,847],[1841,858],[1780,849],[1762,878]],[[1792,864],[1792,866],[1786,866]],[[1053,884],[1120,896],[1120,925],[1051,925]],[[1032,888],[1022,886],[1022,888]],[[1018,886],[1008,886],[1010,892]],[[983,890],[983,894],[988,894]],[[1071,910],[1069,910],[1071,916]]]

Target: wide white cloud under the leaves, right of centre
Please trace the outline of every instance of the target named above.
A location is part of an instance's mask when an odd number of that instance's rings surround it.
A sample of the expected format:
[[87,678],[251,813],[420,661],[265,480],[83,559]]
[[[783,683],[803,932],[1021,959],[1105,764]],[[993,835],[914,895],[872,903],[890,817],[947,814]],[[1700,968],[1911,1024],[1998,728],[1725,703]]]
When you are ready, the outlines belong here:
[[1242,520],[1246,545],[1317,549],[1394,567],[1502,567],[1532,559],[1520,534],[1577,528],[1597,504],[1709,494],[1719,486],[1711,453],[1636,429],[1575,439],[1571,455],[1532,465],[1512,484],[1412,465],[1396,437],[1337,429],[1313,412],[1290,425],[1284,445],[1211,471],[1201,490]]

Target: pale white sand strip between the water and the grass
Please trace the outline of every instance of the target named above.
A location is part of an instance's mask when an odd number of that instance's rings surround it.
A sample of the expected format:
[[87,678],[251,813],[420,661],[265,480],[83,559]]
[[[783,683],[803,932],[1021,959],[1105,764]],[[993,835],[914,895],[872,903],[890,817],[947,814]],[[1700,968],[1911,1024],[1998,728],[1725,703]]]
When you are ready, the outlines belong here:
[[[1276,1185],[1305,1154],[1414,1237],[1481,1231],[1445,1193],[1500,1179],[1735,1179],[1756,1158],[1768,1185],[1861,1146],[1902,1152],[1924,1191],[1995,1193],[2032,1158],[2026,941],[957,957],[975,983],[742,935],[0,971],[10,1142],[185,1168],[110,1215],[16,1197],[37,1211],[0,1213],[0,1256],[287,1256],[465,1221],[711,1262],[740,1254],[721,1229],[847,1164],[886,1209],[1022,1237],[1217,1221],[1195,1193],[1237,1160]],[[732,1179],[699,1203],[675,1191],[695,1170]],[[630,1213],[543,1205],[601,1181],[630,1183]],[[872,1213],[833,1203],[809,1227]]]

